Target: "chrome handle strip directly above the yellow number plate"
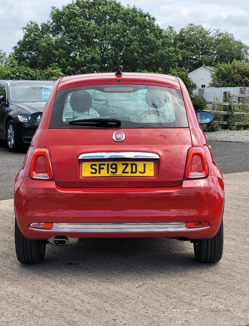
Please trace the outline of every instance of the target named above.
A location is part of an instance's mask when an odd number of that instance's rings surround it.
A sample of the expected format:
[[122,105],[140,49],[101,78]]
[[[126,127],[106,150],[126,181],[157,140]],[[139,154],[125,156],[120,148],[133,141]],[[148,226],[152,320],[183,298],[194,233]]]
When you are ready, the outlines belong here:
[[150,158],[159,159],[159,155],[155,153],[145,152],[96,152],[81,154],[79,160],[90,160],[99,158]]

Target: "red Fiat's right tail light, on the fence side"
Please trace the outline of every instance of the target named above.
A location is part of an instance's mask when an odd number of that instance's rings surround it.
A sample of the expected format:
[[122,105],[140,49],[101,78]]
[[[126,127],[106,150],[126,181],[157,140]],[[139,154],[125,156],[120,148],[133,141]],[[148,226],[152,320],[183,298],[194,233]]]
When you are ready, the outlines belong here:
[[188,151],[185,178],[199,179],[207,175],[208,165],[204,149],[202,147],[191,147]]

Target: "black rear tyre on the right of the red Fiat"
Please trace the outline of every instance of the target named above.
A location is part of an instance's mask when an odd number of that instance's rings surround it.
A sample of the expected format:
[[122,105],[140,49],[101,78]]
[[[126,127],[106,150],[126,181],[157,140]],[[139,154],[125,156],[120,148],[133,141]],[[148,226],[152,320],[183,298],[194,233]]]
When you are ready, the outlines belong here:
[[201,263],[216,263],[223,252],[223,219],[217,234],[210,239],[200,239],[194,242],[195,258]]

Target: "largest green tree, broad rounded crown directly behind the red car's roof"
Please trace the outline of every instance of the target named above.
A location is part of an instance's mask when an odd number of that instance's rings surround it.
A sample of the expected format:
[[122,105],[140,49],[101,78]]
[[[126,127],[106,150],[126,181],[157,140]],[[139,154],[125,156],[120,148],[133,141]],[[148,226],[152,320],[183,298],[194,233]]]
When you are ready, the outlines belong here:
[[30,68],[57,63],[65,74],[113,71],[116,53],[124,71],[161,67],[164,73],[182,60],[175,31],[155,18],[115,0],[76,0],[53,7],[50,20],[29,22],[14,47],[15,59]]

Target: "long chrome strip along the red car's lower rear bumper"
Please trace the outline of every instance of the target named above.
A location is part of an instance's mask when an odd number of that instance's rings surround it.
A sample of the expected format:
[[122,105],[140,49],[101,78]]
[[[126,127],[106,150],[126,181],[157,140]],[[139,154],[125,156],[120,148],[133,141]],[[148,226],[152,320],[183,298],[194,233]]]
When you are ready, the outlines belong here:
[[52,229],[35,229],[46,232],[158,232],[158,231],[196,231],[208,229],[186,228],[185,222],[171,223],[53,223]]

